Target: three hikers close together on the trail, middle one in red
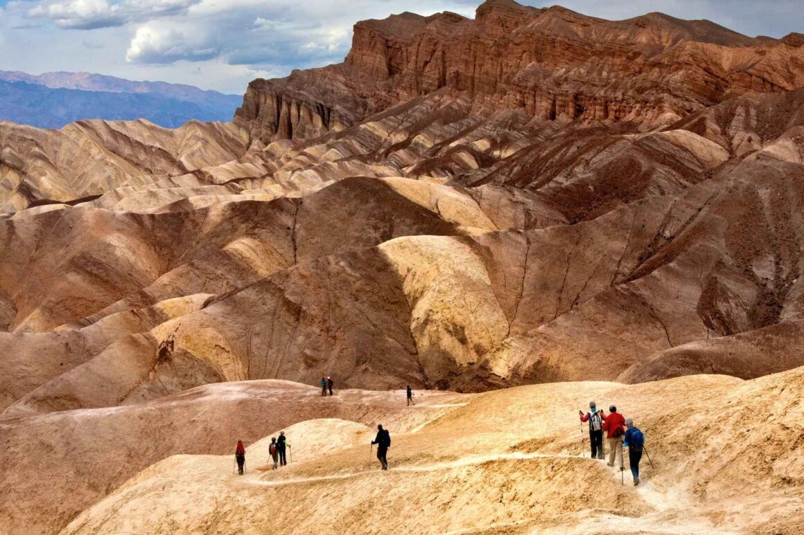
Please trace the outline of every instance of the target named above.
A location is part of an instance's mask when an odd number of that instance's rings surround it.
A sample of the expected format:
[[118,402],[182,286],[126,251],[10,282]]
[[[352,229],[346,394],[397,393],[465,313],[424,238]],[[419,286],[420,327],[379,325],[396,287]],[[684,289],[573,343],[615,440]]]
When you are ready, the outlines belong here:
[[620,470],[625,470],[623,464],[623,449],[628,448],[628,461],[631,475],[634,476],[634,487],[639,484],[639,461],[642,460],[642,451],[645,449],[645,435],[634,425],[633,419],[623,418],[617,412],[617,406],[609,406],[609,415],[597,408],[593,401],[589,402],[589,412],[584,414],[578,411],[581,422],[589,422],[589,445],[592,449],[593,459],[604,459],[605,444],[603,433],[609,445],[608,465],[613,467],[617,458],[620,459]]

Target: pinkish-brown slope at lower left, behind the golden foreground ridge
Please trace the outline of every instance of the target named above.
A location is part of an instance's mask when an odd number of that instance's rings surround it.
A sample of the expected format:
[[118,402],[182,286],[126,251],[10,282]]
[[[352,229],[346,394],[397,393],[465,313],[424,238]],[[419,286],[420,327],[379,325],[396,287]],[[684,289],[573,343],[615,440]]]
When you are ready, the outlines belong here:
[[[154,462],[170,455],[224,455],[233,440],[252,443],[312,419],[387,421],[413,429],[453,408],[456,394],[338,390],[284,381],[221,383],[151,403],[0,419],[2,533],[56,533],[73,517]],[[335,401],[337,399],[337,401]],[[300,446],[304,440],[298,437]],[[294,442],[295,444],[295,442]],[[307,455],[304,447],[297,456]],[[31,455],[36,451],[36,455]]]

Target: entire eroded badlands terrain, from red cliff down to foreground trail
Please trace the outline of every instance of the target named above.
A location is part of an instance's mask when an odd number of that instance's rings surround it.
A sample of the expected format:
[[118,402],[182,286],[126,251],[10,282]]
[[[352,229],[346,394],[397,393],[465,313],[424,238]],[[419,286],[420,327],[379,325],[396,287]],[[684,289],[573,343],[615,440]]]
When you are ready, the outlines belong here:
[[233,123],[0,123],[0,210],[2,533],[800,530],[802,35],[358,22]]

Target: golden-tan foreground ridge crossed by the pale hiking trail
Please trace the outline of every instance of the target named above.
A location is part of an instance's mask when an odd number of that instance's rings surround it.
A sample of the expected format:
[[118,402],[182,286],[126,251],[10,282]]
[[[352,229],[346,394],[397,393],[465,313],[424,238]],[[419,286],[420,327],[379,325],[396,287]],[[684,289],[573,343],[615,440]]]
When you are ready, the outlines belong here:
[[[391,427],[387,473],[367,458],[368,430],[314,420],[290,428],[299,439],[289,468],[270,470],[264,443],[247,448],[242,477],[228,456],[174,456],[63,533],[795,533],[802,374],[474,395],[420,430]],[[643,459],[640,487],[589,459],[573,414],[589,397],[617,402],[646,432],[654,467]],[[338,450],[321,447],[332,441]]]

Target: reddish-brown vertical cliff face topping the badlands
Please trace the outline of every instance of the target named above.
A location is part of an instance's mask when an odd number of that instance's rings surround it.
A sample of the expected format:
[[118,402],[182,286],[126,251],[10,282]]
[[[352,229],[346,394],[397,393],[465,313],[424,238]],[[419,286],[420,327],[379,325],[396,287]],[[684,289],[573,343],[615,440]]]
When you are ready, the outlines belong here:
[[311,137],[448,88],[479,113],[668,124],[746,92],[800,87],[801,41],[657,13],[611,22],[490,0],[474,20],[445,12],[358,22],[344,63],[257,80],[236,122],[260,141]]

